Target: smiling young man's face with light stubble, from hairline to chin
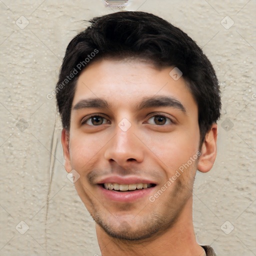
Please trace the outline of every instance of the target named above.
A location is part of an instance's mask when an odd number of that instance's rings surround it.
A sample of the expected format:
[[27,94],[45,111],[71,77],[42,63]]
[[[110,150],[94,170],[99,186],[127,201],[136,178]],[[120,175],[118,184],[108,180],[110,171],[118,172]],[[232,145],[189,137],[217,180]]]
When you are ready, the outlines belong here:
[[104,59],[78,77],[69,148],[62,139],[65,168],[79,173],[81,200],[111,236],[135,240],[162,232],[191,198],[197,105],[182,76],[169,75],[172,68]]

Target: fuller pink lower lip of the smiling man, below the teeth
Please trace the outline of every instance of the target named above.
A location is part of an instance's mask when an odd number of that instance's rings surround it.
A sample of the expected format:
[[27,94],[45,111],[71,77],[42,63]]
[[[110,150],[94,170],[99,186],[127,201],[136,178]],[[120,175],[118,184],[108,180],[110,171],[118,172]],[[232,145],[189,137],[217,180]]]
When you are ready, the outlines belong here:
[[149,197],[149,194],[151,193],[153,188],[154,187],[148,187],[145,189],[142,188],[137,190],[118,192],[115,190],[105,189],[101,185],[99,185],[100,192],[101,194],[103,194],[103,196],[107,197],[110,200],[118,201],[118,202],[132,202],[140,198],[143,198],[145,196]]

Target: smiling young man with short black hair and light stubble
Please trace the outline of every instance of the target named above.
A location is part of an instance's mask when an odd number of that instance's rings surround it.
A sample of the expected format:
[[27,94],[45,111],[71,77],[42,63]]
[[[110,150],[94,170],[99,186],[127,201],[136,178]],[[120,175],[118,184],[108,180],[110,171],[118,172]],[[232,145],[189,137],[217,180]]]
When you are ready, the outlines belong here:
[[153,14],[93,18],[56,85],[65,169],[103,256],[215,255],[192,224],[196,169],[216,157],[220,93],[196,43]]

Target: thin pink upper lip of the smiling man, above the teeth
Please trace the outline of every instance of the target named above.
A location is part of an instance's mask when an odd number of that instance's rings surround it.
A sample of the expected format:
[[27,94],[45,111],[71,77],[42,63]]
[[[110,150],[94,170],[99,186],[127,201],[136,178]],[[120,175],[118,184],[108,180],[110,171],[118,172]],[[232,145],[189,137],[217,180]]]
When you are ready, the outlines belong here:
[[105,178],[102,178],[97,182],[97,184],[102,183],[117,183],[117,184],[134,184],[134,183],[143,183],[143,184],[156,184],[155,181],[150,180],[148,178],[142,178],[142,177],[136,177],[136,176],[107,176]]

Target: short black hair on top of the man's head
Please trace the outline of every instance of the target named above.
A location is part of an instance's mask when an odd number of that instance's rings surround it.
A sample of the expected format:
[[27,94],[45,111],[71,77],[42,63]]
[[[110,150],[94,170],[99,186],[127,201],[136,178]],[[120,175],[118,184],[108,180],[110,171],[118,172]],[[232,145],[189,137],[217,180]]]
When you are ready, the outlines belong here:
[[215,71],[196,42],[168,21],[142,11],[119,11],[89,22],[69,42],[55,88],[63,127],[70,128],[76,81],[87,64],[103,57],[137,57],[150,60],[157,68],[181,70],[197,103],[201,145],[220,116],[221,101]]

